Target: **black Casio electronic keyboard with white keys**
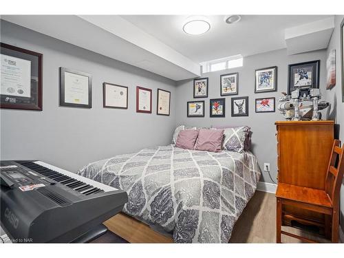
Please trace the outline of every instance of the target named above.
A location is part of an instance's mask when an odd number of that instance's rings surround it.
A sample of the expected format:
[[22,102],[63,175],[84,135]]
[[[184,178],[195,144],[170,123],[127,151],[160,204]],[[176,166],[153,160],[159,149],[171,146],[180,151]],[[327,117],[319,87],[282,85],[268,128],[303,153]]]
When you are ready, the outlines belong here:
[[125,191],[41,161],[1,161],[0,172],[1,227],[16,243],[87,239],[128,201]]

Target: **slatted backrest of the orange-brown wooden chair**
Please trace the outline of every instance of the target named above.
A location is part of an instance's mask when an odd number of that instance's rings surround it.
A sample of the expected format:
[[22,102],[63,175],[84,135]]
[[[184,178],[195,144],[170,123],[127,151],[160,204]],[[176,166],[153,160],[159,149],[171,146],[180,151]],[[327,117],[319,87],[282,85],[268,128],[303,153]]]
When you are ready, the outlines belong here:
[[330,196],[333,206],[339,205],[339,192],[344,173],[344,147],[340,147],[340,145],[340,140],[334,140],[326,174],[325,191]]

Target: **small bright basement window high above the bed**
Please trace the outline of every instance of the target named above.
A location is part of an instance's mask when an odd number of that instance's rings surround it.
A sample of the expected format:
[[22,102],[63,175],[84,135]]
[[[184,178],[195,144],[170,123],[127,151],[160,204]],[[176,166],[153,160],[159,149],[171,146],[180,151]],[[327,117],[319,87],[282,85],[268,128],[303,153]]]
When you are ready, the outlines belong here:
[[202,62],[200,65],[202,65],[202,73],[206,73],[241,67],[243,62],[244,58],[241,56],[241,54],[238,54],[236,56],[228,56],[225,58]]

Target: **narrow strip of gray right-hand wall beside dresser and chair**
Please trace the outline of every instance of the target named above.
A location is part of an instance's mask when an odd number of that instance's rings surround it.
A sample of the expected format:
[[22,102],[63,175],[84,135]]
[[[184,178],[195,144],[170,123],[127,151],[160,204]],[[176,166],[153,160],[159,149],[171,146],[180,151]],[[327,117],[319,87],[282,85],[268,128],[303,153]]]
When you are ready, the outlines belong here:
[[[344,103],[342,102],[342,77],[341,77],[341,34],[340,26],[343,21],[343,15],[336,15],[335,28],[332,34],[330,44],[327,48],[327,54],[330,50],[336,50],[336,86],[326,91],[326,98],[332,103],[330,118],[336,121],[338,125],[337,137],[344,143]],[[344,231],[344,185],[341,188],[341,227]]]

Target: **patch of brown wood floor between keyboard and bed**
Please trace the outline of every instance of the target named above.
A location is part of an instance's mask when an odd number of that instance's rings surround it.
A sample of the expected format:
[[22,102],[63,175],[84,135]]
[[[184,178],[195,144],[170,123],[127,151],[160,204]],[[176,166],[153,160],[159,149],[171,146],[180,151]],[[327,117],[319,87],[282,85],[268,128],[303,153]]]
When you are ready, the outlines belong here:
[[118,213],[104,222],[104,225],[129,243],[173,243],[171,237],[161,235],[125,213]]

